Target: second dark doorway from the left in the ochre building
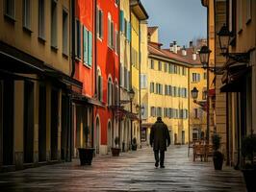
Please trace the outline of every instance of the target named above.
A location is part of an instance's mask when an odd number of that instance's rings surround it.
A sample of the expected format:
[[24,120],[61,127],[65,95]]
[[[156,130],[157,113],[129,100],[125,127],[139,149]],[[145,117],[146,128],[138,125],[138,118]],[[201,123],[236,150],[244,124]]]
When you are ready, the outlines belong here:
[[24,82],[24,162],[33,162],[34,155],[34,83]]

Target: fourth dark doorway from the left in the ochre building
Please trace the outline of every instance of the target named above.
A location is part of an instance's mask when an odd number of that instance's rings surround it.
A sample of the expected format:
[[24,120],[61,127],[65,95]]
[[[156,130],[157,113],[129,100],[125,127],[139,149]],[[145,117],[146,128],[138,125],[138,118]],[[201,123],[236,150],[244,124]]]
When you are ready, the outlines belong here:
[[58,90],[51,92],[51,160],[58,157]]

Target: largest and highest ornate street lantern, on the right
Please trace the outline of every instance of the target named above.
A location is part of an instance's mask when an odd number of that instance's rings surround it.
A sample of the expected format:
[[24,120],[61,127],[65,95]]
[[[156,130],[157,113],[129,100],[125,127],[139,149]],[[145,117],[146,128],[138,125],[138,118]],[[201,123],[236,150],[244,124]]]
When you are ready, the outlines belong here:
[[217,35],[221,53],[225,56],[226,54],[228,54],[228,46],[232,33],[229,32],[228,27],[225,24],[223,24]]

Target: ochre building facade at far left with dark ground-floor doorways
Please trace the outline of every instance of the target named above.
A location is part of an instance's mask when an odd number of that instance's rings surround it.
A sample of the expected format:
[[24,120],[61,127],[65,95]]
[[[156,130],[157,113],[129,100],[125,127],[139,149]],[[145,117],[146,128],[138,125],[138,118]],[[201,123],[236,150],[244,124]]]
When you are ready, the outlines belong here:
[[68,86],[82,84],[70,77],[70,6],[0,1],[2,170],[71,158]]

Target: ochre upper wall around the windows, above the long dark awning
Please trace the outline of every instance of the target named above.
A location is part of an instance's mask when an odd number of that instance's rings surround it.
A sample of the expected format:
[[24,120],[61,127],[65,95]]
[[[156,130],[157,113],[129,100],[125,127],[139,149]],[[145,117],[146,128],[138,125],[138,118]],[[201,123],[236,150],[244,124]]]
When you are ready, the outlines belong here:
[[[51,1],[45,1],[45,43],[38,40],[38,0],[30,1],[31,3],[31,31],[29,34],[23,29],[22,24],[22,2],[15,2],[15,22],[10,21],[4,16],[4,3],[0,0],[0,40],[8,43],[9,45],[24,51],[27,54],[43,60],[47,64],[63,71],[65,74],[70,74],[70,53],[68,50],[68,58],[63,56],[63,8],[69,12],[69,0],[60,0],[57,4],[57,36],[58,36],[58,51],[57,53],[51,48]],[[4,30],[3,30],[4,29]],[[68,39],[69,38],[69,22],[68,22]],[[69,47],[69,40],[67,47]]]

